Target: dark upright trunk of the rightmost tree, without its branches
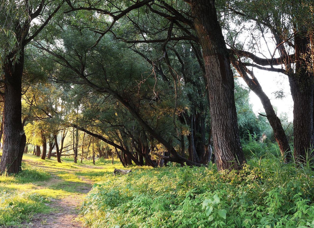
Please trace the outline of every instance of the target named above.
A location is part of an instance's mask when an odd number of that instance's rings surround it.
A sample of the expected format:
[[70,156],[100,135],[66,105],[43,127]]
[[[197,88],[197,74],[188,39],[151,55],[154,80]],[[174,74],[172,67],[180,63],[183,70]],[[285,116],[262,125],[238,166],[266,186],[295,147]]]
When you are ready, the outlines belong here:
[[293,107],[294,157],[296,162],[306,163],[313,156],[313,91],[314,75],[311,46],[305,25],[295,29],[295,73],[290,75]]

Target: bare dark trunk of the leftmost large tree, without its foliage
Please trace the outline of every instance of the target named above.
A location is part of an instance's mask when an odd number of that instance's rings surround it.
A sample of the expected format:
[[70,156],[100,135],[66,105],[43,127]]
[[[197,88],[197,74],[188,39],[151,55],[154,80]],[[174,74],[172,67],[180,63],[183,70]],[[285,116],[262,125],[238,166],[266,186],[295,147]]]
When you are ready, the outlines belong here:
[[[13,55],[12,55],[13,56]],[[5,63],[4,72],[4,126],[3,153],[0,173],[18,173],[21,171],[22,156],[26,143],[22,125],[22,74],[24,66],[24,50],[21,50],[18,63]]]

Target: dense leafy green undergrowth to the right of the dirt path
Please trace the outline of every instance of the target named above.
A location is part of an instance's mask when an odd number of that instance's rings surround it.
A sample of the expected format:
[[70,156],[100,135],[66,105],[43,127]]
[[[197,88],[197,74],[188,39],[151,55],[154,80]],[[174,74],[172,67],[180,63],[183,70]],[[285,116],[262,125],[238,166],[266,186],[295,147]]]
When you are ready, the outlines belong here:
[[133,167],[105,175],[82,209],[90,227],[314,227],[313,176],[270,156],[243,170]]

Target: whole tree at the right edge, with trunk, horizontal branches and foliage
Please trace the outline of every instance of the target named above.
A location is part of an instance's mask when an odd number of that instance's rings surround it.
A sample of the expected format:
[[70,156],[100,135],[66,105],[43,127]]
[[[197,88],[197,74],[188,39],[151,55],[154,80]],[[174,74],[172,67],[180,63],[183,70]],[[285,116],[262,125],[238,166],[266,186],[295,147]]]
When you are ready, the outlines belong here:
[[[312,1],[228,2],[239,26],[254,25],[253,43],[237,46],[234,50],[245,66],[285,74],[290,82],[294,101],[294,156],[296,162],[306,162],[313,156],[313,3]],[[230,15],[228,13],[228,15]],[[227,15],[227,14],[226,14]],[[251,25],[250,25],[251,27]],[[268,34],[271,38],[268,39]],[[234,43],[238,43],[234,34]],[[240,42],[239,42],[240,43]],[[253,45],[252,45],[253,44]],[[255,45],[254,45],[255,44]],[[267,45],[262,51],[261,45]],[[271,51],[271,47],[273,50]],[[247,48],[247,49],[246,49]],[[245,50],[246,49],[246,50]],[[263,56],[259,54],[262,52]],[[268,57],[267,57],[268,56]],[[243,60],[250,60],[246,62]],[[268,67],[267,67],[268,66]],[[281,66],[278,68],[276,66]],[[268,115],[268,114],[267,114]]]

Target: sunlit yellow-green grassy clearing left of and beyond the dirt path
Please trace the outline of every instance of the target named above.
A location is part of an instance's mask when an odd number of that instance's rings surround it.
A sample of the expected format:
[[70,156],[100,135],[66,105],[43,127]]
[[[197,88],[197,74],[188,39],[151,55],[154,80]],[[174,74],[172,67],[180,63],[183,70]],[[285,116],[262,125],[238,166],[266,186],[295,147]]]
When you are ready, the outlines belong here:
[[62,163],[41,160],[30,154],[24,154],[23,160],[22,172],[0,176],[0,227],[23,227],[22,221],[49,213],[51,208],[46,204],[51,200],[83,195],[82,189],[89,189],[114,167],[121,168],[109,160],[97,161],[95,166],[89,161],[75,164],[73,159],[63,159]]

